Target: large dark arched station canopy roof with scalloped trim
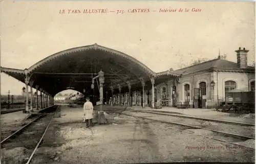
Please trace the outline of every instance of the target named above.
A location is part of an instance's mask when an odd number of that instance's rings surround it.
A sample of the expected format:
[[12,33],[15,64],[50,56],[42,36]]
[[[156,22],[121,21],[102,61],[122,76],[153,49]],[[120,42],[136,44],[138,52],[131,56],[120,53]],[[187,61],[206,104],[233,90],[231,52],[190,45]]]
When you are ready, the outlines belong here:
[[111,90],[111,86],[117,89],[118,85],[127,88],[127,82],[141,86],[141,79],[150,82],[150,77],[179,76],[173,71],[155,73],[137,59],[96,43],[58,52],[25,70],[1,67],[1,72],[22,82],[29,75],[32,87],[38,85],[52,96],[67,88],[91,90],[92,78],[100,71],[104,72],[105,90]]

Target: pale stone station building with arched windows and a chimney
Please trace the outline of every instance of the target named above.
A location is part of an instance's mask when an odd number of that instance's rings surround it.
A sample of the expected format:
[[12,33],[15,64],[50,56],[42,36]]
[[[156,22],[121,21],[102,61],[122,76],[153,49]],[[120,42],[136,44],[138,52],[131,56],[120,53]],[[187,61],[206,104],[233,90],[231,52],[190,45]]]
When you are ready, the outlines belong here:
[[[237,88],[243,91],[254,91],[255,68],[247,65],[248,50],[239,48],[235,52],[237,63],[221,59],[219,55],[217,59],[176,71],[169,70],[180,76],[154,86],[155,106],[181,104],[190,108],[211,108],[225,102],[225,92],[229,90]],[[169,71],[158,73],[158,75],[159,77],[168,76]],[[152,89],[146,90],[145,106],[152,106],[152,93]],[[129,93],[126,93],[124,96],[124,104],[127,104],[128,95]],[[141,95],[140,90],[133,91],[133,105],[142,104]],[[118,97],[114,96],[117,104],[118,100]]]

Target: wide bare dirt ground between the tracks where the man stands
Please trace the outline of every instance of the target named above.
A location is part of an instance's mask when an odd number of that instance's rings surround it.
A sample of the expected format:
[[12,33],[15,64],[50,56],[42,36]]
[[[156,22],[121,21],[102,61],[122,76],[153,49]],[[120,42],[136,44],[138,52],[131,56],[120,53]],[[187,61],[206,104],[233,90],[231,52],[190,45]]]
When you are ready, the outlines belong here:
[[[228,148],[217,140],[115,114],[110,124],[85,128],[81,107],[61,106],[31,164],[254,161],[251,150]],[[17,151],[8,156],[10,151],[2,153],[8,159],[29,157]]]

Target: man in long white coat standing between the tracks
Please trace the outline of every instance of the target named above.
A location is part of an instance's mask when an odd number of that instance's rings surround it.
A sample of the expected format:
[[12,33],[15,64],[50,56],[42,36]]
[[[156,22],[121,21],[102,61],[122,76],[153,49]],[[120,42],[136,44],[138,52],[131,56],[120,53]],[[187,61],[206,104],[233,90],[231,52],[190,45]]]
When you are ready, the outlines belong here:
[[86,103],[83,105],[83,112],[86,119],[86,127],[93,126],[93,104],[88,97],[86,98]]

